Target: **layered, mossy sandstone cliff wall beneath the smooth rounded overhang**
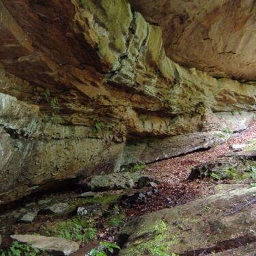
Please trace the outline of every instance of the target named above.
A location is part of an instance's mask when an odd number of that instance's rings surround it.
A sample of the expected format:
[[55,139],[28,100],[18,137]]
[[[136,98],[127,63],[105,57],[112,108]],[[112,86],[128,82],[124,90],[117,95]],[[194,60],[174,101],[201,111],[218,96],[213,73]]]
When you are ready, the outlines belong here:
[[0,12],[0,203],[209,147],[254,119],[255,82],[178,65],[168,31],[126,0],[0,0]]

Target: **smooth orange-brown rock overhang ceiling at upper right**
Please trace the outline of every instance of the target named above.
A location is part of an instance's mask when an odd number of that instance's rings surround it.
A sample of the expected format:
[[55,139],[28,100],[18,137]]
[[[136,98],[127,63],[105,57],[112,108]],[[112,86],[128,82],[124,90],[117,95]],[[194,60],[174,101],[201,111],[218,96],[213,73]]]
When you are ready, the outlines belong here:
[[255,1],[130,0],[165,31],[167,55],[214,76],[256,79]]

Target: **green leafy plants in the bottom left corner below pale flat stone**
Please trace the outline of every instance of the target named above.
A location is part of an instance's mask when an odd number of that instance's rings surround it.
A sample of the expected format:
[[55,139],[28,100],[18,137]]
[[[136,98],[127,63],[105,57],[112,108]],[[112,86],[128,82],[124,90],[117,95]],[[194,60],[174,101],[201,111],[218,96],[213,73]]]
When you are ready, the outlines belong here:
[[6,250],[0,250],[1,256],[37,256],[42,253],[38,248],[32,248],[29,244],[20,244],[14,241],[12,246]]

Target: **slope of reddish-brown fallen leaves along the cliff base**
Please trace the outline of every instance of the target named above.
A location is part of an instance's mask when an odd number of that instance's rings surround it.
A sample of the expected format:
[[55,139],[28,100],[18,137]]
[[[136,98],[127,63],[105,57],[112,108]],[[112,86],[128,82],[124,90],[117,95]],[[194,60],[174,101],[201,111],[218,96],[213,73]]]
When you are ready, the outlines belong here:
[[243,132],[233,134],[233,137],[226,143],[210,150],[193,152],[148,165],[145,173],[152,175],[161,182],[158,186],[158,193],[147,197],[147,203],[138,204],[134,208],[124,209],[126,214],[129,217],[140,216],[147,212],[187,203],[198,197],[212,195],[216,184],[228,183],[229,181],[214,182],[207,178],[191,181],[188,180],[190,169],[231,152],[231,145],[246,143],[254,138],[256,138],[256,122],[253,122]]

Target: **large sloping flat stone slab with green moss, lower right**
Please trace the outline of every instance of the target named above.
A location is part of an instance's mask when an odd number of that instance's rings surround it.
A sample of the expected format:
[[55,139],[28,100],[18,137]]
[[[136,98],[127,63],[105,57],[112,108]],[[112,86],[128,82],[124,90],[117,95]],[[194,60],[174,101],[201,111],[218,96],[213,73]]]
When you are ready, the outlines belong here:
[[256,187],[239,187],[152,212],[130,221],[120,231],[124,247],[119,256],[146,256],[153,249],[163,249],[168,255],[201,255],[205,251],[214,255],[248,246],[256,241],[255,214]]

